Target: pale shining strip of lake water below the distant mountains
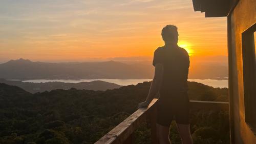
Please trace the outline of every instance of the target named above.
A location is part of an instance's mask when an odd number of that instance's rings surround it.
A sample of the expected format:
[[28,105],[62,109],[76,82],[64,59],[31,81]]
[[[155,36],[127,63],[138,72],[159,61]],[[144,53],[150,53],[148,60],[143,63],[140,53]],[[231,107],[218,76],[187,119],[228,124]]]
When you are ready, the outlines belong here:
[[[109,83],[115,83],[121,86],[137,85],[138,83],[143,83],[143,81],[151,81],[152,79],[33,79],[24,80],[23,82],[30,83],[47,83],[47,82],[62,82],[62,83],[80,83],[80,82],[91,82],[95,80],[106,81]],[[196,81],[204,85],[208,85],[214,88],[228,88],[228,80],[217,80],[217,79],[188,79],[188,81]]]

